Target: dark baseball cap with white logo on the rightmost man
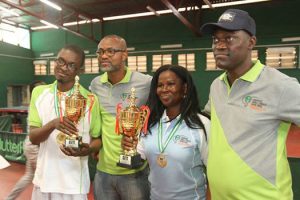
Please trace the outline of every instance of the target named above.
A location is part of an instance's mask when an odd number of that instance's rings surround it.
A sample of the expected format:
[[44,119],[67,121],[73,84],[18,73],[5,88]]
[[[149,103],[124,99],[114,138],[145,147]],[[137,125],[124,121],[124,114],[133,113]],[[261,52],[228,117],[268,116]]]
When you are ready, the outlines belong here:
[[254,19],[248,12],[239,9],[228,9],[219,18],[217,23],[206,23],[201,26],[202,34],[212,35],[218,28],[228,31],[244,30],[250,35],[256,34]]

